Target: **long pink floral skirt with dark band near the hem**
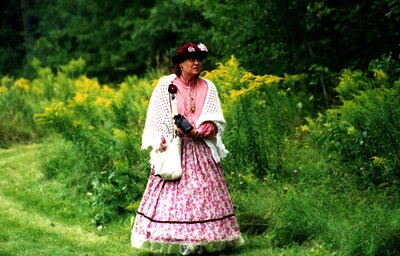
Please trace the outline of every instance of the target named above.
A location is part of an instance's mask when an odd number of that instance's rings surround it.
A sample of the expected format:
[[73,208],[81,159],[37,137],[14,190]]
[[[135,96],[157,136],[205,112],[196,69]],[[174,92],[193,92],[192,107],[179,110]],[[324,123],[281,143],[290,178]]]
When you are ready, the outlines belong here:
[[182,177],[150,174],[132,230],[136,248],[190,254],[243,244],[221,166],[202,139],[184,138]]

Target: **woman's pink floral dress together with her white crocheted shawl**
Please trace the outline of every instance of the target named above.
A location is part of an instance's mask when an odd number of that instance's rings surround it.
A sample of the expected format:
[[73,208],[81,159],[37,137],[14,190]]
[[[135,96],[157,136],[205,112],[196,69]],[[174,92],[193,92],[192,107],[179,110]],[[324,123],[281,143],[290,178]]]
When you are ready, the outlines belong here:
[[228,152],[222,144],[225,121],[215,85],[203,78],[190,85],[175,75],[160,79],[150,100],[142,147],[159,147],[161,137],[172,135],[172,81],[178,87],[178,112],[201,138],[184,137],[180,179],[164,181],[151,171],[132,229],[132,246],[183,255],[240,246],[243,239],[219,164]]

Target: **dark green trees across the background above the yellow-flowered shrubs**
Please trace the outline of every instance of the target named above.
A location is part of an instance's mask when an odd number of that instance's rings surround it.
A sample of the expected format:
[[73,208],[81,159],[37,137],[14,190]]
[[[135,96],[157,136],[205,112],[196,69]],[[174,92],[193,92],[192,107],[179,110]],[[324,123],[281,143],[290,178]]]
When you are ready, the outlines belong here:
[[21,0],[2,1],[0,74],[32,74],[37,58],[57,68],[72,58],[109,83],[168,68],[177,45],[204,42],[209,66],[231,54],[255,74],[303,73],[323,67],[367,68],[398,57],[396,0]]

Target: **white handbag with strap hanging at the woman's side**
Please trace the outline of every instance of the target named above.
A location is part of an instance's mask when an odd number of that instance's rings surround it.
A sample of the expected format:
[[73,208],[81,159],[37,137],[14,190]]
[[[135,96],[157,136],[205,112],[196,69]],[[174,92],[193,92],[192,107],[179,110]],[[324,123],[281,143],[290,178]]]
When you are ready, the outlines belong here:
[[[178,114],[178,103],[174,94],[171,95],[171,106],[172,117],[174,117]],[[163,180],[176,180],[182,176],[182,138],[176,134],[175,130],[173,132],[173,139],[167,143],[165,151],[155,148],[150,153],[154,175],[159,176]]]

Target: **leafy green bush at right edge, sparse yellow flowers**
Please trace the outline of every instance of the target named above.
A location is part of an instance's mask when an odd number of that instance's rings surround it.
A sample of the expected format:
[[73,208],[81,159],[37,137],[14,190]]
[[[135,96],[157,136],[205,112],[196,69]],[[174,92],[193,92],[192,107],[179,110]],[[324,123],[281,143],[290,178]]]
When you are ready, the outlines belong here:
[[382,69],[374,69],[374,78],[344,70],[336,88],[342,105],[310,121],[314,138],[340,161],[339,172],[364,187],[395,188],[400,181],[399,89]]

